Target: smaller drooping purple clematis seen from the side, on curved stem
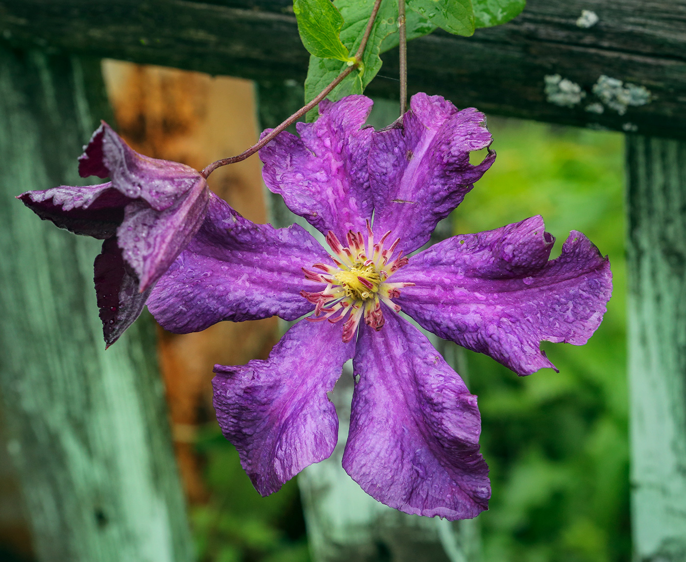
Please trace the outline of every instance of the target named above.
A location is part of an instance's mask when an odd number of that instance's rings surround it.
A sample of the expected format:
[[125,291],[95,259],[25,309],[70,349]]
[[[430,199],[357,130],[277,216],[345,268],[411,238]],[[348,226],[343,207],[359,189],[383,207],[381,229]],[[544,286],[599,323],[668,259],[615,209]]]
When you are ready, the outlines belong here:
[[139,154],[104,121],[79,157],[79,174],[111,180],[27,191],[19,199],[62,229],[104,239],[95,292],[109,346],[200,228],[209,190],[200,172]]

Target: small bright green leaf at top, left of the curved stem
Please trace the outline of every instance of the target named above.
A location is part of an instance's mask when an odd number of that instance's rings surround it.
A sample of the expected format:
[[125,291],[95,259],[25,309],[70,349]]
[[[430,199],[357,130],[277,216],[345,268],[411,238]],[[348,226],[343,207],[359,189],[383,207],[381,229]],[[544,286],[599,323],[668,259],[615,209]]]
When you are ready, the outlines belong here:
[[311,54],[347,62],[349,56],[339,38],[343,16],[330,0],[294,0],[300,39]]

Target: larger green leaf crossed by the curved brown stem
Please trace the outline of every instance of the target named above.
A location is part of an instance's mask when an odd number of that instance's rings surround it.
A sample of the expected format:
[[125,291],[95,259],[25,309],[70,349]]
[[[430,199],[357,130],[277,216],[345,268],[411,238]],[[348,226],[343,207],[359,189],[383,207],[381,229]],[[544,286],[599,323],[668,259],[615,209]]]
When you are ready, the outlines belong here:
[[[372,13],[374,0],[338,0],[335,5],[343,16],[344,24],[340,31],[340,40],[348,52],[355,53],[362,42],[362,35],[367,27],[369,16]],[[398,31],[398,6],[392,0],[381,2],[381,8],[377,19],[372,26],[367,48],[362,56],[362,68],[351,73],[343,82],[327,96],[332,101],[341,99],[346,95],[362,93],[364,88],[375,77],[381,68],[381,43],[392,33]],[[309,69],[305,80],[305,102],[310,102],[320,91],[326,88],[335,78],[346,69],[345,62],[339,62],[330,58],[311,56]],[[314,121],[318,111],[311,110],[307,114],[307,121]]]

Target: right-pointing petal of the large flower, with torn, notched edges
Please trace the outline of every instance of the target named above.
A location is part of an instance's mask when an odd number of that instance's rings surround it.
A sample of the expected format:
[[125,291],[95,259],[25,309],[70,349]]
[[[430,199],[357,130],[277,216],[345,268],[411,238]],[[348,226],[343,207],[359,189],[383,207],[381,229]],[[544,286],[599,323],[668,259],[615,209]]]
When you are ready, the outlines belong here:
[[553,243],[540,216],[453,236],[398,272],[397,281],[415,285],[395,300],[425,329],[518,375],[555,368],[541,340],[586,343],[606,312],[612,273],[582,233],[572,231],[547,261]]

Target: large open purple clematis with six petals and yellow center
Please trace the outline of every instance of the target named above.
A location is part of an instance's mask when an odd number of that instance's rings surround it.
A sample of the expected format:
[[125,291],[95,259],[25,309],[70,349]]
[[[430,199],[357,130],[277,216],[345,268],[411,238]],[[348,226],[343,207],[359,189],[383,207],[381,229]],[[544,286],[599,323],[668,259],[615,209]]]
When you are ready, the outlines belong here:
[[212,197],[148,307],[176,332],[309,315],[268,360],[215,366],[217,419],[261,494],[331,455],[338,419],[327,392],[352,359],[344,469],[406,513],[475,517],[490,497],[476,397],[399,311],[528,375],[552,366],[541,340],[582,344],[598,327],[608,260],[572,232],[548,261],[554,239],[540,217],[410,255],[493,163],[493,152],[469,163],[490,133],[481,113],[425,94],[374,131],[363,127],[371,104],[361,95],[322,102],[316,123],[298,124],[300,137],[282,133],[260,152],[265,183],[327,249],[298,225],[253,224]]

